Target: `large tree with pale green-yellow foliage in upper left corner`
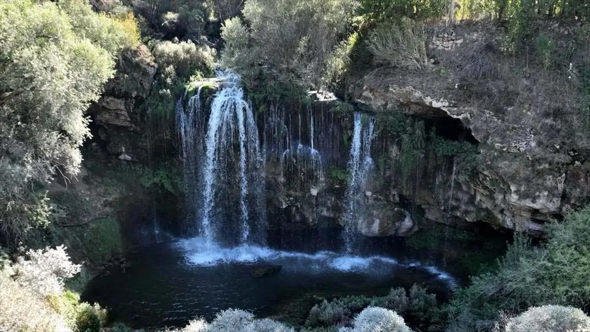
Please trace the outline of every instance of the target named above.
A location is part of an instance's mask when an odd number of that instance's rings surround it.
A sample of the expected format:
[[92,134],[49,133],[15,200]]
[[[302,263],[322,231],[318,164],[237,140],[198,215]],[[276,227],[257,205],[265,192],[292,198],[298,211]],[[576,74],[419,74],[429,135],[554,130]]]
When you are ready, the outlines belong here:
[[138,40],[132,17],[76,0],[3,0],[0,21],[0,226],[21,237],[38,211],[32,184],[57,170],[77,173],[90,136],[84,112],[113,76],[117,53]]

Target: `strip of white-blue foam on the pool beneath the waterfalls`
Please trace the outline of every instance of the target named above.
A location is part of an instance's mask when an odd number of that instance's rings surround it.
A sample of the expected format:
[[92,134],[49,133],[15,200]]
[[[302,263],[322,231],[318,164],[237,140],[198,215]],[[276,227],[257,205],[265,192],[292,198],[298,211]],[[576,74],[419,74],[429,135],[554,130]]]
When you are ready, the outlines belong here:
[[373,275],[391,274],[395,272],[396,268],[416,268],[445,281],[450,288],[457,286],[453,276],[441,271],[436,266],[423,265],[419,262],[400,263],[396,259],[386,256],[362,257],[332,251],[290,252],[255,245],[225,248],[217,243],[208,242],[202,237],[182,239],[176,242],[175,246],[183,252],[186,263],[195,266],[262,262],[280,264],[287,272],[326,273],[337,271]]

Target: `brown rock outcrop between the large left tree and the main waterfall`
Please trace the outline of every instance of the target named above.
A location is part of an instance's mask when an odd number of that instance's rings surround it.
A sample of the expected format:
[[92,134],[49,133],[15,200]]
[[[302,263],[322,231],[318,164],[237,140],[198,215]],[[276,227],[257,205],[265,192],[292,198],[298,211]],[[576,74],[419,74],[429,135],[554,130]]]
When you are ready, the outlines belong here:
[[156,73],[148,48],[140,44],[124,50],[117,73],[107,82],[103,96],[90,108],[95,135],[106,142],[110,154],[121,160],[146,161],[149,151],[145,102]]

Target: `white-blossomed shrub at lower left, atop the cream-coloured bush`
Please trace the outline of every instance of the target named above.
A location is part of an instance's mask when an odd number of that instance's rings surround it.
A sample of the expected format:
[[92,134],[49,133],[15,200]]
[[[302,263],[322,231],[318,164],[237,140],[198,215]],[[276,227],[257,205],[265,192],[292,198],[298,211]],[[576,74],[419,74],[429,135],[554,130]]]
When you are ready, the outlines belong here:
[[70,261],[64,246],[55,249],[28,250],[28,260],[22,256],[12,265],[15,281],[41,295],[60,294],[64,280],[80,272],[80,265]]

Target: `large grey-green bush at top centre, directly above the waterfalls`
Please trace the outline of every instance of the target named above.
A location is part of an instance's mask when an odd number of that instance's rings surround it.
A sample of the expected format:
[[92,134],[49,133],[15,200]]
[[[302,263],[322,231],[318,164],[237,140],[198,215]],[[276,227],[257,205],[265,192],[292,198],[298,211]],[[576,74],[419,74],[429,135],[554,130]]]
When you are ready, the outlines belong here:
[[222,63],[241,74],[247,86],[254,84],[261,64],[279,81],[317,86],[355,8],[353,0],[247,1],[242,11],[246,24],[238,18],[224,22],[228,43]]

